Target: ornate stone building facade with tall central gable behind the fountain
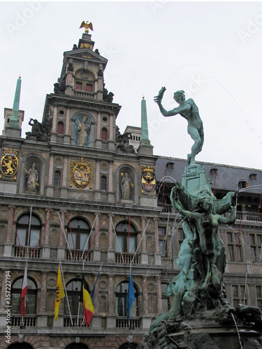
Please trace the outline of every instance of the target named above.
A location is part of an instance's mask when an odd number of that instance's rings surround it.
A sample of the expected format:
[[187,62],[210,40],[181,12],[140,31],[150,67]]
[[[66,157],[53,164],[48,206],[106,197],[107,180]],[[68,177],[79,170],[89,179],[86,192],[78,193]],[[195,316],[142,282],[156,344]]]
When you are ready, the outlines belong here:
[[[175,259],[184,237],[168,193],[175,181],[181,183],[185,161],[155,156],[138,128],[138,148],[119,133],[121,107],[105,89],[106,64],[91,36],[83,34],[73,50],[64,52],[42,121],[30,121],[25,139],[21,120],[18,126],[5,124],[0,138],[0,348],[136,348],[152,319],[172,302],[165,290],[179,272]],[[228,260],[224,281],[231,302],[261,306],[262,171],[203,165],[215,195],[235,191],[237,183],[243,189],[235,225],[219,230]],[[130,261],[136,301],[129,322]],[[68,302],[61,299],[54,321],[59,262]],[[90,292],[99,274],[89,327],[78,307],[83,269]]]

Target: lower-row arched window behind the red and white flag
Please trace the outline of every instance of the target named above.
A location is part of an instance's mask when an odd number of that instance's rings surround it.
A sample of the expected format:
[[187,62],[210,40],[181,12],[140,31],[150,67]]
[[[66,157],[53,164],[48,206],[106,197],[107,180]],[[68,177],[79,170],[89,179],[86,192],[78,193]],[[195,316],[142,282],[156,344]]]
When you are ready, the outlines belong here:
[[[20,314],[23,277],[15,280],[11,287],[11,313]],[[27,277],[26,314],[36,314],[37,288],[33,280]]]

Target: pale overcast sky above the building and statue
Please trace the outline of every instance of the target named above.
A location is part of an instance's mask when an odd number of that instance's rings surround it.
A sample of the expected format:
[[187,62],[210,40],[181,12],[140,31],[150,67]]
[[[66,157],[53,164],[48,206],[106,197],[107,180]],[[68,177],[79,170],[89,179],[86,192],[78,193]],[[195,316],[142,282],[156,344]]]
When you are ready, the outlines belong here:
[[173,109],[174,91],[193,98],[203,119],[205,142],[197,161],[262,168],[262,3],[176,1],[0,2],[1,122],[13,107],[22,75],[22,135],[30,118],[42,120],[63,52],[82,37],[82,20],[108,59],[105,87],[121,132],[140,126],[140,101],[154,154],[187,158],[193,141],[187,121],[164,118],[153,98],[166,86],[163,107]]

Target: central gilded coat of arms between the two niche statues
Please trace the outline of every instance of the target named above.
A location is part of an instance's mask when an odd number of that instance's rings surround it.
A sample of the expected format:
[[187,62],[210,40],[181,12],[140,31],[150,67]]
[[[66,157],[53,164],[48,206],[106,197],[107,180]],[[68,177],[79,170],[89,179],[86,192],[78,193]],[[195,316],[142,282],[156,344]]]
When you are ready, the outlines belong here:
[[[92,168],[93,164],[85,161],[84,158],[81,158],[81,160],[71,161],[71,180],[80,190],[88,185],[89,188],[92,189]],[[72,183],[70,186],[72,186]]]

